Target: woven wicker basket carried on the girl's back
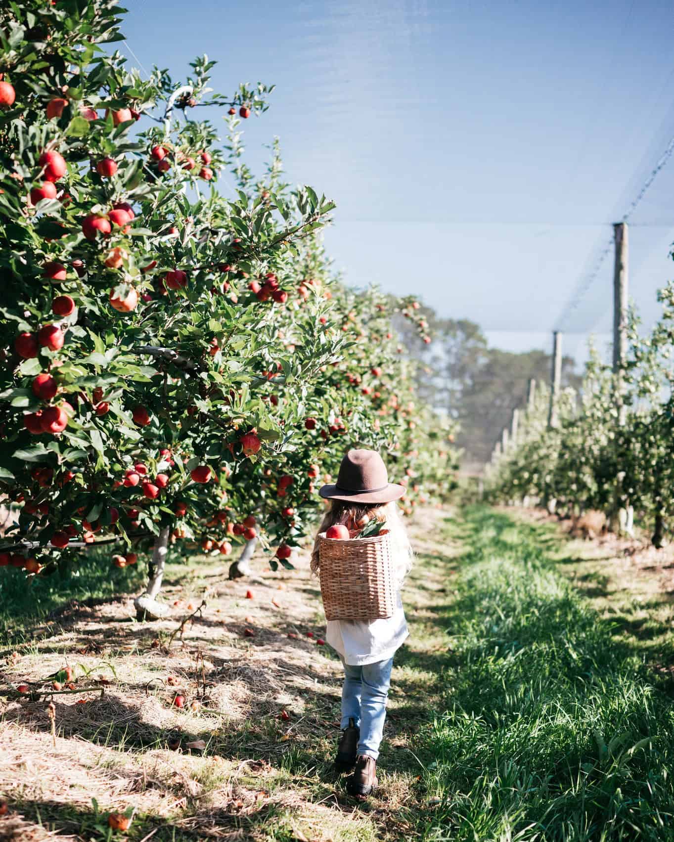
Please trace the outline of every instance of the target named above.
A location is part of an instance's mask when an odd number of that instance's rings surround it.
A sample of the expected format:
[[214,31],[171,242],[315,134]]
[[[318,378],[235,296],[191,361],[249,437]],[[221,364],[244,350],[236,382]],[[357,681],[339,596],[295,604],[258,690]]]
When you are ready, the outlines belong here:
[[398,594],[388,530],[372,538],[318,536],[321,596],[326,620],[393,616]]

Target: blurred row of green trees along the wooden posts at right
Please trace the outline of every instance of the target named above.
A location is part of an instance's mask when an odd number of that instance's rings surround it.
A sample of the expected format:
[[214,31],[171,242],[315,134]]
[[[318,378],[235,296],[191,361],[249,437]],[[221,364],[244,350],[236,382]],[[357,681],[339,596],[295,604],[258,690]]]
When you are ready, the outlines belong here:
[[595,351],[580,392],[559,397],[559,424],[548,429],[548,396],[522,418],[516,443],[500,457],[489,485],[498,498],[537,498],[562,514],[598,509],[620,520],[634,509],[663,546],[674,514],[674,282],[660,290],[660,320],[650,333],[629,322],[629,352],[614,374]]

